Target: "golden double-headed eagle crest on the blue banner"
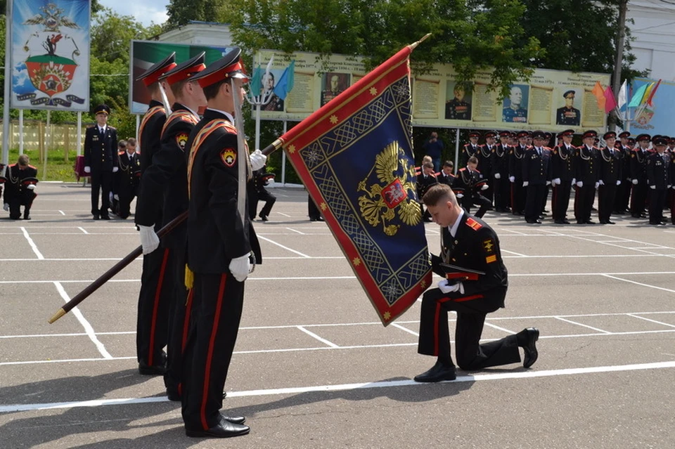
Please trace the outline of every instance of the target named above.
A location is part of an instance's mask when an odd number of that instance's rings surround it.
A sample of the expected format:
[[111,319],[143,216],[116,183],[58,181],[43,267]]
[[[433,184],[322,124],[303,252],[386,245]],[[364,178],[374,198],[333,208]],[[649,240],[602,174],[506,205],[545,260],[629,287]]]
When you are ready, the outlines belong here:
[[[373,170],[379,182],[366,187]],[[358,191],[366,193],[359,197],[361,215],[371,226],[382,221],[386,235],[395,235],[401,227],[391,223],[397,212],[398,219],[406,225],[420,223],[422,210],[415,198],[415,182],[415,167],[409,164],[398,142],[390,143],[375,157],[375,166],[359,183]]]

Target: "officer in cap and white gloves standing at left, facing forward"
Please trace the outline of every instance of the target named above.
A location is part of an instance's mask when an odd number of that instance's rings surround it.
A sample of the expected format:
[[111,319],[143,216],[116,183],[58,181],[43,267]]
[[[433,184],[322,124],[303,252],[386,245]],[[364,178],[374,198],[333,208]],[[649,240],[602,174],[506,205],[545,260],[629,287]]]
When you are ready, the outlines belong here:
[[[98,105],[94,109],[96,126],[84,133],[84,172],[91,176],[91,214],[94,220],[110,220],[110,188],[117,164],[117,129],[108,126],[110,108]],[[98,208],[98,194],[101,193],[101,208]]]

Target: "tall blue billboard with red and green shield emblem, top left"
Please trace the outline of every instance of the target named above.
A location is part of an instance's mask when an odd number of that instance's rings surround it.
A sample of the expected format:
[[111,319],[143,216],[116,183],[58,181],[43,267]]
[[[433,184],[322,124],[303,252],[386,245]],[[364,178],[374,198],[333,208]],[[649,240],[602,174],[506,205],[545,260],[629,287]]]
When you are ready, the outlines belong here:
[[10,0],[11,107],[89,111],[89,0]]

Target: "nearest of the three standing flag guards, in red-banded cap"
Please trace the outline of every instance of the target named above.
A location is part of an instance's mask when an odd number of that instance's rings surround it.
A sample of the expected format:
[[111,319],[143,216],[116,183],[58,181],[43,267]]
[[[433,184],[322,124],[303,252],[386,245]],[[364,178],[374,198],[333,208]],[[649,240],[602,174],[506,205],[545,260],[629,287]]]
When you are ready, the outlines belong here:
[[[266,157],[245,148],[240,104],[247,79],[237,47],[198,77],[208,108],[188,141],[188,267],[193,311],[185,347],[182,415],[188,436],[248,434],[244,417],[220,412],[237,339],[244,281],[260,248],[246,207],[246,181]],[[253,260],[251,258],[253,257]]]

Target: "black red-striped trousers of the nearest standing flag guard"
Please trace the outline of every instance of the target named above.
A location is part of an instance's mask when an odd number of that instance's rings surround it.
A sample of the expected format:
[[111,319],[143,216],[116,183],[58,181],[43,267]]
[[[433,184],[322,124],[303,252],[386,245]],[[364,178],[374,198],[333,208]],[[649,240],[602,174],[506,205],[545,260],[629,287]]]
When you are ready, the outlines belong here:
[[223,388],[237,341],[244,283],[232,275],[195,273],[181,395],[186,429],[219,422]]

